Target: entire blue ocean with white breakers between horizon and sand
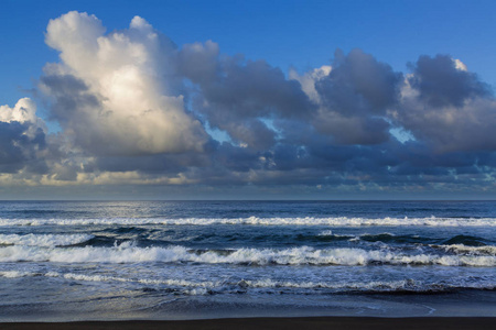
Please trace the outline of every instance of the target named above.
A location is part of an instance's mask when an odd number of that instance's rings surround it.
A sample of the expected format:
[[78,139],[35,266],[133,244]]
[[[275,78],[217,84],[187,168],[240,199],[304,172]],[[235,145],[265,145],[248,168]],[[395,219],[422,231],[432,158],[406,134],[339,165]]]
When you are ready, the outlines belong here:
[[496,316],[494,201],[1,201],[0,321]]

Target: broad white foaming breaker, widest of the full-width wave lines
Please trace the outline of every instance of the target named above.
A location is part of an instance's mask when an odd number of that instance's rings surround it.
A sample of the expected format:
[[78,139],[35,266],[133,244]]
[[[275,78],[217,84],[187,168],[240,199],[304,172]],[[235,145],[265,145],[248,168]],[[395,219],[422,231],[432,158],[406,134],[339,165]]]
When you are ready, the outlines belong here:
[[403,254],[363,249],[236,249],[190,250],[184,246],[137,248],[130,242],[114,248],[37,248],[6,246],[0,262],[55,263],[203,263],[239,265],[443,265],[496,266],[494,255]]

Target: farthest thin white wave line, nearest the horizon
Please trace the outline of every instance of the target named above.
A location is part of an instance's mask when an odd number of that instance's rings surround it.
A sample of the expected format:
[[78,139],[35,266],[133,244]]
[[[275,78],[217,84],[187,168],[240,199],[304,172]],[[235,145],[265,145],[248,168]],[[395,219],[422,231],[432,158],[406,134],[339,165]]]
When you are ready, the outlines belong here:
[[0,219],[0,226],[211,226],[211,224],[251,224],[251,226],[428,226],[428,227],[496,227],[495,218],[98,218],[98,219]]

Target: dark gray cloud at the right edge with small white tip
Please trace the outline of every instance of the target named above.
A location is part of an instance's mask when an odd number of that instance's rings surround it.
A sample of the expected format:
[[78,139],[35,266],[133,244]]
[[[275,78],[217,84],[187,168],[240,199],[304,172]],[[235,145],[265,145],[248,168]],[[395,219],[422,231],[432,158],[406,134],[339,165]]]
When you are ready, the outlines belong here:
[[433,153],[496,150],[496,100],[486,84],[445,55],[420,56],[412,68],[400,125]]

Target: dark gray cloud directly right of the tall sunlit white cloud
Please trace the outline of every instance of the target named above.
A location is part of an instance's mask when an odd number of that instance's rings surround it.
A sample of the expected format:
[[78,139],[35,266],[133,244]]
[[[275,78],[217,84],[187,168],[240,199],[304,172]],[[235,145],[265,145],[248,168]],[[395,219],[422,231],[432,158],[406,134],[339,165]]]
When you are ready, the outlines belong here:
[[220,56],[217,44],[185,45],[179,72],[198,87],[196,110],[209,125],[248,147],[274,145],[276,132],[262,119],[313,116],[316,107],[295,80],[265,61]]

